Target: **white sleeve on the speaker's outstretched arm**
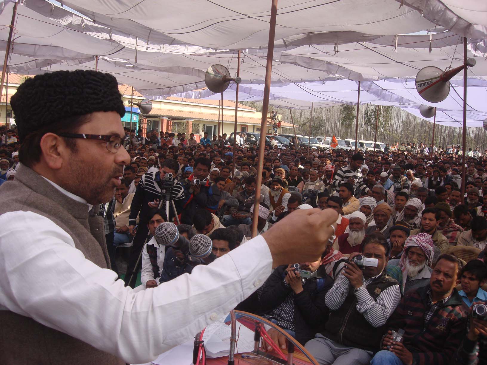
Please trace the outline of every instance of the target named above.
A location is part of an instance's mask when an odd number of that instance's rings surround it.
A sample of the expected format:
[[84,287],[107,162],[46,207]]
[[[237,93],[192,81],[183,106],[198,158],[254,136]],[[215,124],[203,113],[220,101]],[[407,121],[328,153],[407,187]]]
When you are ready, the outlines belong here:
[[129,363],[181,344],[257,290],[271,274],[262,236],[157,288],[133,292],[33,212],[0,216],[0,310],[60,330]]

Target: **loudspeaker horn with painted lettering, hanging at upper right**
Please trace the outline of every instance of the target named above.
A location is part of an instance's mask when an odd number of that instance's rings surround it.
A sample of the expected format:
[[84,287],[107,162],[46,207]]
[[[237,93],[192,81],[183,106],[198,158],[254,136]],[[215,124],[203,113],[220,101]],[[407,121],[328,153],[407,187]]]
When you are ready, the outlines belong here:
[[434,66],[426,66],[416,75],[416,90],[426,101],[439,103],[450,93],[450,79],[466,67],[473,66],[475,66],[474,58],[468,58],[466,64],[445,72]]

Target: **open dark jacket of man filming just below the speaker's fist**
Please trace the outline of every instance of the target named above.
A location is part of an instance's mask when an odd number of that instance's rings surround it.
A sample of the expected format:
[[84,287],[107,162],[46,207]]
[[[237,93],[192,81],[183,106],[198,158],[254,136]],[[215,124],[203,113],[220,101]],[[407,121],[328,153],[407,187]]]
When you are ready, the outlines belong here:
[[[260,309],[263,312],[278,307],[292,292],[291,287],[284,283],[286,269],[287,265],[277,267],[266,280],[259,297]],[[324,267],[320,267],[318,277],[305,279],[303,291],[294,295],[296,339],[301,344],[304,345],[314,338],[317,332],[324,329],[328,318],[325,296],[332,286],[333,279],[325,273]]]

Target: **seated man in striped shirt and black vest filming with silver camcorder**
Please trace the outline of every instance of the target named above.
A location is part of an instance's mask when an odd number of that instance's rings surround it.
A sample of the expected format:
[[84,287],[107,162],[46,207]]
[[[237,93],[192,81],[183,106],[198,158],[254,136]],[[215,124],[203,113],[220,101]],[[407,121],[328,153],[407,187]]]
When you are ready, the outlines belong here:
[[[352,253],[350,260],[358,255]],[[401,300],[397,281],[386,275],[389,245],[384,236],[365,237],[361,255],[376,258],[377,266],[361,270],[354,262],[345,265],[326,293],[331,312],[325,330],[306,343],[320,365],[369,364],[386,321]]]

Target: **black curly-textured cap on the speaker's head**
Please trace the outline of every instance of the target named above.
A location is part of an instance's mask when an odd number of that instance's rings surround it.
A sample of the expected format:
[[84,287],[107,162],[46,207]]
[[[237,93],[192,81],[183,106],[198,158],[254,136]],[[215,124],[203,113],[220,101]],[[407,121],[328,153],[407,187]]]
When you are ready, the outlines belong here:
[[118,83],[109,73],[56,71],[26,79],[11,98],[20,139],[59,120],[125,107]]

